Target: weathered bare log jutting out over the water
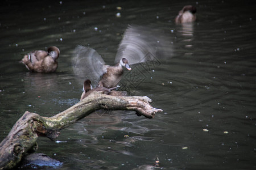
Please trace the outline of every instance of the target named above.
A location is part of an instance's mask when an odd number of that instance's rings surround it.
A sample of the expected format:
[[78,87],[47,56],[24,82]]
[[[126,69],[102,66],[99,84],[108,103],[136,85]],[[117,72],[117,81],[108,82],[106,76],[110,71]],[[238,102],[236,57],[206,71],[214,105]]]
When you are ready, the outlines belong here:
[[147,96],[115,97],[94,92],[71,108],[52,117],[25,112],[0,143],[0,169],[15,167],[24,155],[35,151],[39,136],[53,140],[60,135],[59,130],[97,109],[131,110],[136,111],[139,116],[153,118],[156,112],[162,112],[162,110],[153,108],[150,103],[151,99]]

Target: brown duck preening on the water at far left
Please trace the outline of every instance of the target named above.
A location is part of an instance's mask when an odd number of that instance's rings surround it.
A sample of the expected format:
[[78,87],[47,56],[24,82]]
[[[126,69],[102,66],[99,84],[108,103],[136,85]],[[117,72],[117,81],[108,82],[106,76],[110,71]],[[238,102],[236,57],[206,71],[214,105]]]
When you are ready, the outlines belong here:
[[30,72],[52,73],[58,67],[59,54],[59,48],[50,46],[47,51],[34,50],[24,55],[20,63],[23,63]]

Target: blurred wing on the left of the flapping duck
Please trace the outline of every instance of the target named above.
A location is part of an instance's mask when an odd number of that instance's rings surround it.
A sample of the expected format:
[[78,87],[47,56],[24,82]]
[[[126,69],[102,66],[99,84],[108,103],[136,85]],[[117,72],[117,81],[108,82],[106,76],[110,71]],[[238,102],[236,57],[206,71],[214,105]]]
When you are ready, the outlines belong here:
[[100,77],[106,73],[104,60],[96,50],[78,45],[72,58],[73,71],[75,75],[84,81],[90,79],[92,84],[97,84]]

